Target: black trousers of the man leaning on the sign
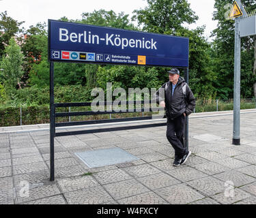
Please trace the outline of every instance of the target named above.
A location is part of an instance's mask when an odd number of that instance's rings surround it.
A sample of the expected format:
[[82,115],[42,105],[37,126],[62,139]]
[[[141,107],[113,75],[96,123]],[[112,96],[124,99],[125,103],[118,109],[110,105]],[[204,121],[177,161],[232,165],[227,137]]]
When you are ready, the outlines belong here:
[[183,155],[188,153],[184,143],[184,130],[186,124],[186,117],[184,114],[177,116],[177,118],[167,121],[167,139],[175,150],[175,157],[182,158]]

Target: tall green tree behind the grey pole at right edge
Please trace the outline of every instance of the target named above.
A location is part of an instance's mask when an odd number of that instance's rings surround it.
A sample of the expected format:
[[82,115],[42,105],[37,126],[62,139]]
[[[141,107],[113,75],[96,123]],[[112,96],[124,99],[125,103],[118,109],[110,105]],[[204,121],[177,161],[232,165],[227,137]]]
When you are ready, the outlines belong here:
[[[231,10],[231,7],[228,7],[228,4],[231,3],[229,0],[216,0],[214,4],[216,11],[214,11],[213,20],[218,20],[218,27],[212,33],[212,36],[215,37],[214,52],[212,53],[213,70],[218,75],[214,86],[218,97],[222,99],[233,98],[234,21],[225,18],[225,14]],[[255,0],[242,1],[242,4],[247,13],[256,9]],[[255,37],[243,37],[241,40],[242,97],[253,97],[253,83],[256,82],[253,77],[253,62],[251,61],[254,59],[253,51],[256,51],[253,44],[255,44]]]

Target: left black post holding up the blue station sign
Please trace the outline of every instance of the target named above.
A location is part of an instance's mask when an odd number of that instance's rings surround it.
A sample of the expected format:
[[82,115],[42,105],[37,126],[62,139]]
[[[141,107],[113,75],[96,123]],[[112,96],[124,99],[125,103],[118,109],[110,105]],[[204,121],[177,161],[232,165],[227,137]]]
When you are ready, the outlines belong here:
[[54,137],[55,137],[55,106],[54,106],[54,63],[50,61],[50,181],[54,181]]

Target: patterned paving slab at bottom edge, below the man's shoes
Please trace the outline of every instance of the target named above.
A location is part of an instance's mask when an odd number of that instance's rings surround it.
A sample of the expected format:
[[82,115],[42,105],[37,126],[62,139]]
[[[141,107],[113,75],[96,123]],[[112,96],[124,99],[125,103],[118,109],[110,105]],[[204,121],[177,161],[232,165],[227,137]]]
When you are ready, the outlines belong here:
[[201,193],[188,187],[186,184],[178,184],[155,191],[158,196],[164,198],[170,204],[188,204],[205,198]]

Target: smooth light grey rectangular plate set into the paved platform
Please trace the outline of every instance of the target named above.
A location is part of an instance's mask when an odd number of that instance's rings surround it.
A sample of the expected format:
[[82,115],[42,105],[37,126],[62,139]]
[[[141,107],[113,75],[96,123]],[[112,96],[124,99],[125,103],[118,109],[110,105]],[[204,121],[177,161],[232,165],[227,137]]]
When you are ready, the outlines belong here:
[[89,168],[98,168],[101,166],[109,166],[116,163],[125,163],[139,159],[120,148],[99,149],[96,151],[84,151],[74,154]]

